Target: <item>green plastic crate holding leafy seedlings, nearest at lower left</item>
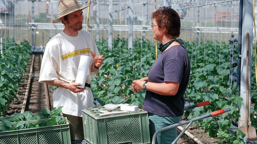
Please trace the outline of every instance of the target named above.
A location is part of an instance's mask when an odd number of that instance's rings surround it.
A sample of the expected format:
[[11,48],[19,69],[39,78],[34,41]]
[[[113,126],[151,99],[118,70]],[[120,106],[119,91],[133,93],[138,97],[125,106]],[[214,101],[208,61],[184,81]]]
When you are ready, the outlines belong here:
[[[46,121],[44,119],[31,122]],[[2,131],[0,132],[0,144],[71,144],[69,122],[66,118],[65,124],[61,125]]]

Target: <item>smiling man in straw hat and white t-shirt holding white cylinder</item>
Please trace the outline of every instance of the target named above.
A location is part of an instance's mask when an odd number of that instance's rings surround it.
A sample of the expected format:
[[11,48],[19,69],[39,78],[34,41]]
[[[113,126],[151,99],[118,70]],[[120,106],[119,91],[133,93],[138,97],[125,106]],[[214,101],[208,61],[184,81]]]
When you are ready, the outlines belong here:
[[[90,90],[91,75],[101,69],[104,55],[99,54],[93,37],[81,30],[82,10],[86,7],[76,0],[61,0],[58,7],[60,17],[53,23],[62,22],[65,28],[46,45],[39,83],[57,87],[53,106],[63,106],[63,116],[70,122],[71,141],[75,140],[75,135],[77,140],[83,140],[82,110],[95,106]],[[77,87],[81,83],[75,83],[81,55],[91,57],[84,89]]]

